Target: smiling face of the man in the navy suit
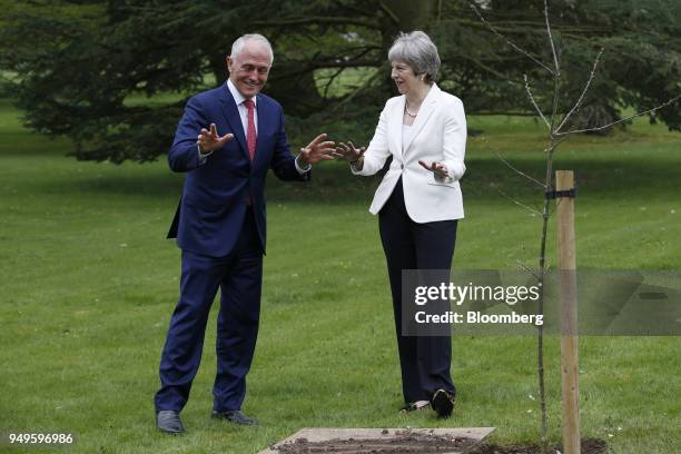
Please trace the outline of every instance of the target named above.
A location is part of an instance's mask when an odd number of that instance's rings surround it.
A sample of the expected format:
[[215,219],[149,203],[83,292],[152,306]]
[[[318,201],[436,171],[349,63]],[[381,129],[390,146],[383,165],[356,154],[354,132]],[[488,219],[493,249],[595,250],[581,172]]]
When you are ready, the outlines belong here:
[[227,57],[229,79],[247,99],[256,96],[267,82],[269,67],[269,51],[259,42],[246,42],[238,56]]

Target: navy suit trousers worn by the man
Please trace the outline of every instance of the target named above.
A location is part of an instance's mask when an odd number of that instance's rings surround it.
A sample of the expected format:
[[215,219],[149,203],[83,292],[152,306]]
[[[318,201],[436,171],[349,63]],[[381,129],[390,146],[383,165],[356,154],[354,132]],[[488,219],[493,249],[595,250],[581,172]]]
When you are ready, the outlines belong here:
[[214,409],[240,409],[258,334],[261,284],[263,251],[251,208],[229,255],[209,257],[182,250],[180,297],[161,355],[161,387],[155,397],[157,412],[179,412],[189,398],[201,359],[208,313],[218,288]]

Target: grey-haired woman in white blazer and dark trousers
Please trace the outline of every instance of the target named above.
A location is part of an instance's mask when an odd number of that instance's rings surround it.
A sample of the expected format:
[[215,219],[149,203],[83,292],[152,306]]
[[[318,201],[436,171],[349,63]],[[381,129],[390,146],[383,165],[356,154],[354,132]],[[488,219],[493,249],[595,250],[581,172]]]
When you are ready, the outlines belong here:
[[[464,217],[458,180],[466,169],[466,119],[461,100],[435,83],[440,57],[427,34],[402,33],[388,60],[401,96],[385,103],[366,151],[342,142],[336,157],[348,160],[353,174],[362,176],[376,174],[393,157],[369,211],[378,214],[388,267],[403,409],[432,405],[438,416],[448,417],[456,395],[450,374],[450,330],[436,336],[404,335],[402,270],[446,270],[448,277],[457,220]],[[405,310],[414,305],[414,300],[404,303]]]

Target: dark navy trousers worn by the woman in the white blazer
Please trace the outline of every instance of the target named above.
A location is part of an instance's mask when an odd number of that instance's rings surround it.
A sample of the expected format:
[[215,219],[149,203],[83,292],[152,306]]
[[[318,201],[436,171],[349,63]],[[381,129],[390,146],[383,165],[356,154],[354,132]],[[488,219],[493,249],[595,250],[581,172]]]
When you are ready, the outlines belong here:
[[[414,223],[404,205],[402,179],[378,213],[381,240],[387,261],[397,349],[402,369],[402,392],[406,403],[430,401],[437,389],[455,394],[450,367],[452,337],[404,336],[402,333],[402,270],[452,267],[456,220]],[[407,302],[413,304],[413,302]]]

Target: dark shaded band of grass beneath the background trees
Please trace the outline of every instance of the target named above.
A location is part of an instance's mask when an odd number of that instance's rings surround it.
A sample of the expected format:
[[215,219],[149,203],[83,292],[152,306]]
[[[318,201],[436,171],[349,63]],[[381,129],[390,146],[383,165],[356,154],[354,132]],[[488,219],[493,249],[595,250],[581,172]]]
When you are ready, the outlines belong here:
[[[523,172],[544,179],[544,162],[526,157],[511,160]],[[467,162],[462,180],[466,199],[504,200],[500,190],[511,197],[536,199],[542,194],[539,185],[519,176],[496,157],[474,157]],[[599,198],[623,198],[664,196],[678,197],[681,166],[675,159],[664,156],[658,159],[644,157],[586,157],[563,156],[556,160],[555,169],[574,170],[580,193]],[[176,199],[181,195],[184,176],[162,167],[152,169],[127,168],[102,169],[76,174],[70,179],[34,180],[27,182],[32,189],[61,195],[109,195],[124,197],[150,197]],[[351,175],[342,162],[324,164],[313,171],[309,182],[279,181],[274,176],[267,179],[266,198],[269,203],[296,203],[354,205],[369,204],[381,177],[369,178]]]

